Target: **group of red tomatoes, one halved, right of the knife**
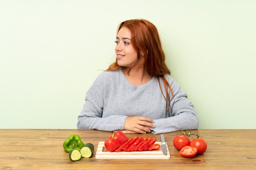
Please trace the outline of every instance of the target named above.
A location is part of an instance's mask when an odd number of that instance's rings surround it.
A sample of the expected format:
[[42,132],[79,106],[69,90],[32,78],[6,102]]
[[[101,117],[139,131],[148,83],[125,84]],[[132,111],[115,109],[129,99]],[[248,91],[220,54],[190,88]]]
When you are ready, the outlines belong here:
[[[192,158],[195,155],[202,154],[207,150],[207,143],[202,139],[202,136],[183,131],[183,135],[176,136],[173,139],[173,146],[180,150],[180,154],[186,158]],[[190,141],[189,137],[195,135],[196,138]],[[201,138],[200,138],[201,137]]]

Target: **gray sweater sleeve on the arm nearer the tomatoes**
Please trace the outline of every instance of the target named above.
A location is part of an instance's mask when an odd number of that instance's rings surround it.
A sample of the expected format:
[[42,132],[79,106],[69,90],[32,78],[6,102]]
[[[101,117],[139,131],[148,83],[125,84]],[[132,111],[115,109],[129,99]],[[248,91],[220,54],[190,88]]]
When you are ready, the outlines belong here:
[[193,104],[187,99],[186,93],[180,88],[179,84],[168,77],[167,81],[173,90],[173,97],[171,93],[170,108],[168,116],[162,119],[154,120],[155,128],[151,128],[154,134],[168,133],[178,130],[192,130],[197,129],[199,126],[198,116],[194,110]]

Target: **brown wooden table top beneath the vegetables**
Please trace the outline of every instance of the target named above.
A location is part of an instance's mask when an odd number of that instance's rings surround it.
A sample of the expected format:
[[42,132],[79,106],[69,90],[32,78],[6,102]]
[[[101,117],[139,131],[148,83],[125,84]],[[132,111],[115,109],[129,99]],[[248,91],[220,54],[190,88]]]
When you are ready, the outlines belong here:
[[[97,150],[99,141],[112,132],[66,129],[0,129],[0,170],[256,170],[256,129],[253,130],[191,130],[207,141],[207,151],[193,158],[184,158],[173,147],[173,138],[182,132],[165,134],[171,159],[96,159],[71,161],[63,149],[63,142],[72,134],[84,143],[92,143]],[[148,133],[127,134],[134,137],[156,137]],[[191,137],[190,137],[191,138]],[[191,138],[192,139],[192,138]]]

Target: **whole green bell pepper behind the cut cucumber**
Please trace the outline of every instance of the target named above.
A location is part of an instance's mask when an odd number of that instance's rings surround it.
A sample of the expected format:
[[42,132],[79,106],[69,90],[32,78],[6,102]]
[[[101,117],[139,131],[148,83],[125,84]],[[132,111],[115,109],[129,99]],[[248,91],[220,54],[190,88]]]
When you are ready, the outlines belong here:
[[70,152],[72,149],[81,150],[84,144],[83,141],[80,139],[79,135],[70,135],[67,140],[63,143],[63,148],[66,152]]

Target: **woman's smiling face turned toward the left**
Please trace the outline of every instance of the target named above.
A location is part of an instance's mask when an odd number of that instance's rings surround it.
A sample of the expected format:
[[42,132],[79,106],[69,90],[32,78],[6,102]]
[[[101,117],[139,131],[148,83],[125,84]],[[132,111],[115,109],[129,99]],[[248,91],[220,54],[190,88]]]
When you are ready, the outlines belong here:
[[117,33],[116,43],[115,52],[117,54],[117,64],[130,68],[137,60],[137,51],[131,44],[130,30],[126,27],[122,27]]

